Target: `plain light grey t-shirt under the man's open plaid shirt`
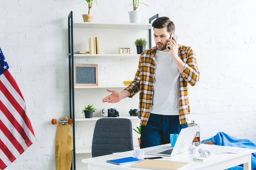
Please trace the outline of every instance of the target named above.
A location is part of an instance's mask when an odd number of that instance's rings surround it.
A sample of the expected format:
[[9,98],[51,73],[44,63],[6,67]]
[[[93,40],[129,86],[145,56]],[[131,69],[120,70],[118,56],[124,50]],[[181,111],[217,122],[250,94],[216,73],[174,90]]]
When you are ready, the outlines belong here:
[[150,113],[179,115],[180,71],[170,51],[156,51],[153,101]]

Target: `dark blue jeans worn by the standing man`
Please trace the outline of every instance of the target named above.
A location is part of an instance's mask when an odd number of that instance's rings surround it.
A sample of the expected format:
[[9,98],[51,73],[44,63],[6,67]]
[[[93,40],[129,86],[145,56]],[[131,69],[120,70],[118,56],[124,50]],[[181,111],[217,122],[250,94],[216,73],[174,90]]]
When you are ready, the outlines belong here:
[[159,115],[150,113],[147,125],[141,126],[140,148],[170,143],[170,134],[179,134],[187,127],[180,125],[179,115]]

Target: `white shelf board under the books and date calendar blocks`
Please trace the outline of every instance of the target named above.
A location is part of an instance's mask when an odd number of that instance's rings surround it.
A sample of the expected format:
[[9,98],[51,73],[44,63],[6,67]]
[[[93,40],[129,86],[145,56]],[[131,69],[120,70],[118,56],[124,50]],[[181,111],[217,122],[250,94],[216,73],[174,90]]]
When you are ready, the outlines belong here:
[[[67,54],[70,55],[70,54]],[[74,54],[74,58],[134,58],[139,59],[140,54]]]

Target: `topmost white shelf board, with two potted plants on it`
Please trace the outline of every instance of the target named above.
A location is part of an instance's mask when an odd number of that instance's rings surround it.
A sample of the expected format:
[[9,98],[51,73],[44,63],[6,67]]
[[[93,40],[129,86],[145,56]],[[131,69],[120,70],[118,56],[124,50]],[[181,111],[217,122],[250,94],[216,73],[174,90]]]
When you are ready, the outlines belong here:
[[100,29],[151,29],[151,24],[136,23],[93,23],[78,22],[73,23],[73,28],[100,28]]

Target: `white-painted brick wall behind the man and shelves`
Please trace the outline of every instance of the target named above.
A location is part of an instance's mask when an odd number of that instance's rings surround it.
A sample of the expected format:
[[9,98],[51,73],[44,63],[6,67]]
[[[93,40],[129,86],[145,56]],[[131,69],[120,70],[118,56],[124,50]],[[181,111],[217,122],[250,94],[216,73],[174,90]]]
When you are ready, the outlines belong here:
[[[51,125],[50,120],[69,114],[67,16],[73,11],[74,21],[82,22],[81,14],[87,12],[87,6],[86,3],[77,4],[78,2],[80,1],[0,0],[0,47],[26,100],[28,115],[37,138],[37,142],[6,170],[55,169],[56,126]],[[94,4],[91,11],[94,21],[128,23],[128,11],[132,9],[128,8],[128,5],[131,2],[131,0],[98,0],[98,8]],[[201,138],[207,139],[218,131],[224,131],[238,138],[256,141],[255,2],[253,0],[235,0],[233,3],[221,0],[142,2],[150,6],[146,8],[141,4],[139,7],[143,11],[144,23],[157,13],[160,16],[170,17],[176,24],[179,43],[191,46],[196,52],[201,77],[198,85],[189,88],[192,111],[190,120],[196,120],[201,125]],[[145,32],[128,31],[127,34],[123,33],[125,38],[122,38],[113,33],[115,32],[111,30],[105,31],[104,34],[97,33],[100,38],[107,36],[109,42],[114,42],[112,46],[101,39],[103,41],[100,48],[107,49],[111,54],[115,53],[118,43],[130,46],[135,53],[134,39],[147,36]],[[87,42],[87,37],[90,35],[85,33],[82,35],[84,42]],[[76,35],[75,50],[86,46],[81,41],[83,36]],[[122,77],[131,79],[137,69],[136,59],[105,61],[89,59],[83,62],[100,63],[100,67],[105,69],[99,72],[99,77],[104,81],[109,80],[108,82],[116,79],[121,81]],[[111,68],[110,64],[117,67]],[[118,74],[114,74],[115,71]],[[77,100],[78,114],[84,105],[88,104],[88,99],[85,97],[88,94],[98,108],[97,116],[100,115],[101,108],[106,106],[123,109],[122,115],[125,115],[125,111],[130,108],[129,106],[122,108],[126,102],[131,107],[137,107],[138,96],[134,99],[125,99],[126,101],[116,105],[107,105],[101,103],[101,99],[108,94],[105,89],[81,90],[76,91],[76,94],[81,98]],[[93,122],[90,124],[93,125]],[[84,123],[77,125],[81,130],[88,126]],[[83,135],[91,136],[93,129],[90,127],[88,131]],[[90,142],[90,139],[84,139],[83,135],[76,136],[76,140],[81,145]],[[137,136],[134,135],[136,139]],[[82,159],[88,155],[77,157]],[[77,164],[81,165],[80,162]]]

